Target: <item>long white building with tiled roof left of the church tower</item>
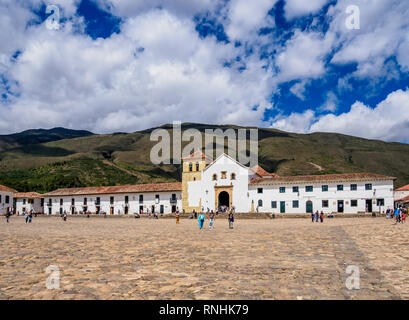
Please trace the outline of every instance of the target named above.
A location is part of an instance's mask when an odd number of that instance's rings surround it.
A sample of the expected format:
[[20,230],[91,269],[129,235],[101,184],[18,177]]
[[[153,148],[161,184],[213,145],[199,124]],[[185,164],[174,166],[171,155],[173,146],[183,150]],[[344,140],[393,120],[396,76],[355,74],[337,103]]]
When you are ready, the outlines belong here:
[[58,189],[43,195],[46,214],[171,213],[182,205],[181,183]]

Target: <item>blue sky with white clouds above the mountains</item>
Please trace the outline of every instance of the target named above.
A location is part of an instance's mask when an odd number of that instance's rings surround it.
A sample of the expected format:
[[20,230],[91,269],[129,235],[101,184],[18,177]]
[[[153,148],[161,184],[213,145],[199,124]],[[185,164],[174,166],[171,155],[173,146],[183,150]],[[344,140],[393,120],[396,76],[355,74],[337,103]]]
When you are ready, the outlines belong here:
[[344,0],[55,0],[58,30],[48,4],[0,4],[0,133],[180,120],[409,141],[407,1],[354,1],[359,28]]

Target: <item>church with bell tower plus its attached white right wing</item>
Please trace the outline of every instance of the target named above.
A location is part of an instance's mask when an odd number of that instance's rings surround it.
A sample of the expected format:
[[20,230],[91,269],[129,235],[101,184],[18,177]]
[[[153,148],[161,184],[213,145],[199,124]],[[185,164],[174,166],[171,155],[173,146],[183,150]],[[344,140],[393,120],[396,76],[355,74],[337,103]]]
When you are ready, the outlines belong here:
[[393,208],[394,177],[371,173],[280,177],[248,168],[226,154],[210,162],[201,152],[183,159],[183,208],[302,214],[383,212]]

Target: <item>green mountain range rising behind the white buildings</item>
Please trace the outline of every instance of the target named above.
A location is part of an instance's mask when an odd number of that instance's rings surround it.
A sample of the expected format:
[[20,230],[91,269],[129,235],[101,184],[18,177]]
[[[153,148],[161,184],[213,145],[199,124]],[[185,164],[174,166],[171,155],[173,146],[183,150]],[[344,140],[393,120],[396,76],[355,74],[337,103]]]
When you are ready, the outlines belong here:
[[[172,135],[172,125],[168,129]],[[182,130],[239,129],[182,124]],[[153,165],[150,141],[157,128],[96,135],[63,128],[0,136],[0,184],[19,191],[180,180],[179,165]],[[249,128],[248,128],[249,129]],[[279,175],[373,172],[409,183],[409,145],[335,133],[295,134],[259,129],[259,164]],[[204,141],[204,140],[203,140]],[[203,144],[204,145],[204,144]]]

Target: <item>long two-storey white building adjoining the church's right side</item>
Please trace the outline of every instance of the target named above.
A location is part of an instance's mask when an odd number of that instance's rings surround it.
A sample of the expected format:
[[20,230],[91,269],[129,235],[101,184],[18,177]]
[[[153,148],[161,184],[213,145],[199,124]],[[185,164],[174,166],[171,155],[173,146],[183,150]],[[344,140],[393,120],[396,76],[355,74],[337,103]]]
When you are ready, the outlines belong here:
[[394,206],[393,178],[368,173],[257,178],[249,193],[260,212],[383,212]]

